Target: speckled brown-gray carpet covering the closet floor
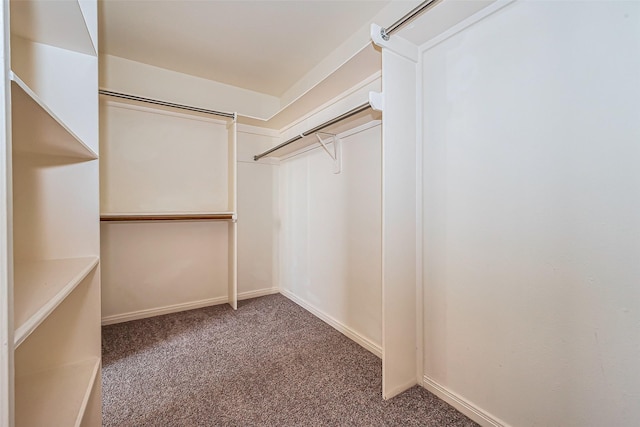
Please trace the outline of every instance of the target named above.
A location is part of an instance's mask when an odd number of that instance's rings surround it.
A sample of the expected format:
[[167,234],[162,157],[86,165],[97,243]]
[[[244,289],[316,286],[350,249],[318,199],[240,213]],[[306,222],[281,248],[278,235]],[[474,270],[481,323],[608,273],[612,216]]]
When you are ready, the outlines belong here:
[[105,326],[105,426],[476,426],[281,295]]

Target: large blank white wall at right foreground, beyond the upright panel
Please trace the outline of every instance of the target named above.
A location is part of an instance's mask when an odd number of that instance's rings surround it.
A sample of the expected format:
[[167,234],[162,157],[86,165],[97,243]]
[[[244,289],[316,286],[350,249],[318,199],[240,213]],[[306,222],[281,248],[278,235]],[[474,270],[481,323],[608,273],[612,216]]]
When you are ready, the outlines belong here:
[[486,425],[638,425],[640,4],[458,31],[423,46],[425,379]]

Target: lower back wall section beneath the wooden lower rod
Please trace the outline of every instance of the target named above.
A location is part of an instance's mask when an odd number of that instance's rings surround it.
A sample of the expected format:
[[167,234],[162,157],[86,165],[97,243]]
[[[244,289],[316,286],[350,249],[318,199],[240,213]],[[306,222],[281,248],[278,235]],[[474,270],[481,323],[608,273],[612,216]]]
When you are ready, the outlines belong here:
[[226,222],[103,223],[102,319],[227,302]]

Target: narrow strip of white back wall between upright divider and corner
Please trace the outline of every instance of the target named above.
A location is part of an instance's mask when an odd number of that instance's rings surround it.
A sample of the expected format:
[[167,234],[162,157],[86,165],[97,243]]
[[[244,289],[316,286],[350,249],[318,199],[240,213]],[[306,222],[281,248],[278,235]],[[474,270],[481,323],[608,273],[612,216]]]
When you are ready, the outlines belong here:
[[278,164],[253,156],[273,147],[277,132],[238,126],[238,294],[278,291]]

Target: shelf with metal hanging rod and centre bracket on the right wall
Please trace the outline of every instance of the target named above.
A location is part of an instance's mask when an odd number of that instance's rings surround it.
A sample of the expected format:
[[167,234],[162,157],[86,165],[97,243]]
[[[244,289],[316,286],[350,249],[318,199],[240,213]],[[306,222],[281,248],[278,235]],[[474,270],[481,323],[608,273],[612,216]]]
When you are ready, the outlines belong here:
[[[294,136],[293,138],[276,145],[275,147],[272,147],[260,154],[256,154],[255,156],[253,156],[253,160],[258,161],[263,157],[281,157],[293,153],[312,144],[317,144],[318,139],[316,139],[314,135],[336,135],[341,132],[345,132],[348,129],[363,125],[377,118],[379,118],[379,113],[377,113],[376,110],[372,108],[370,102],[365,102],[343,114],[340,114],[337,117],[334,117],[307,131],[304,131]],[[322,142],[320,144],[324,145],[322,144]]]

